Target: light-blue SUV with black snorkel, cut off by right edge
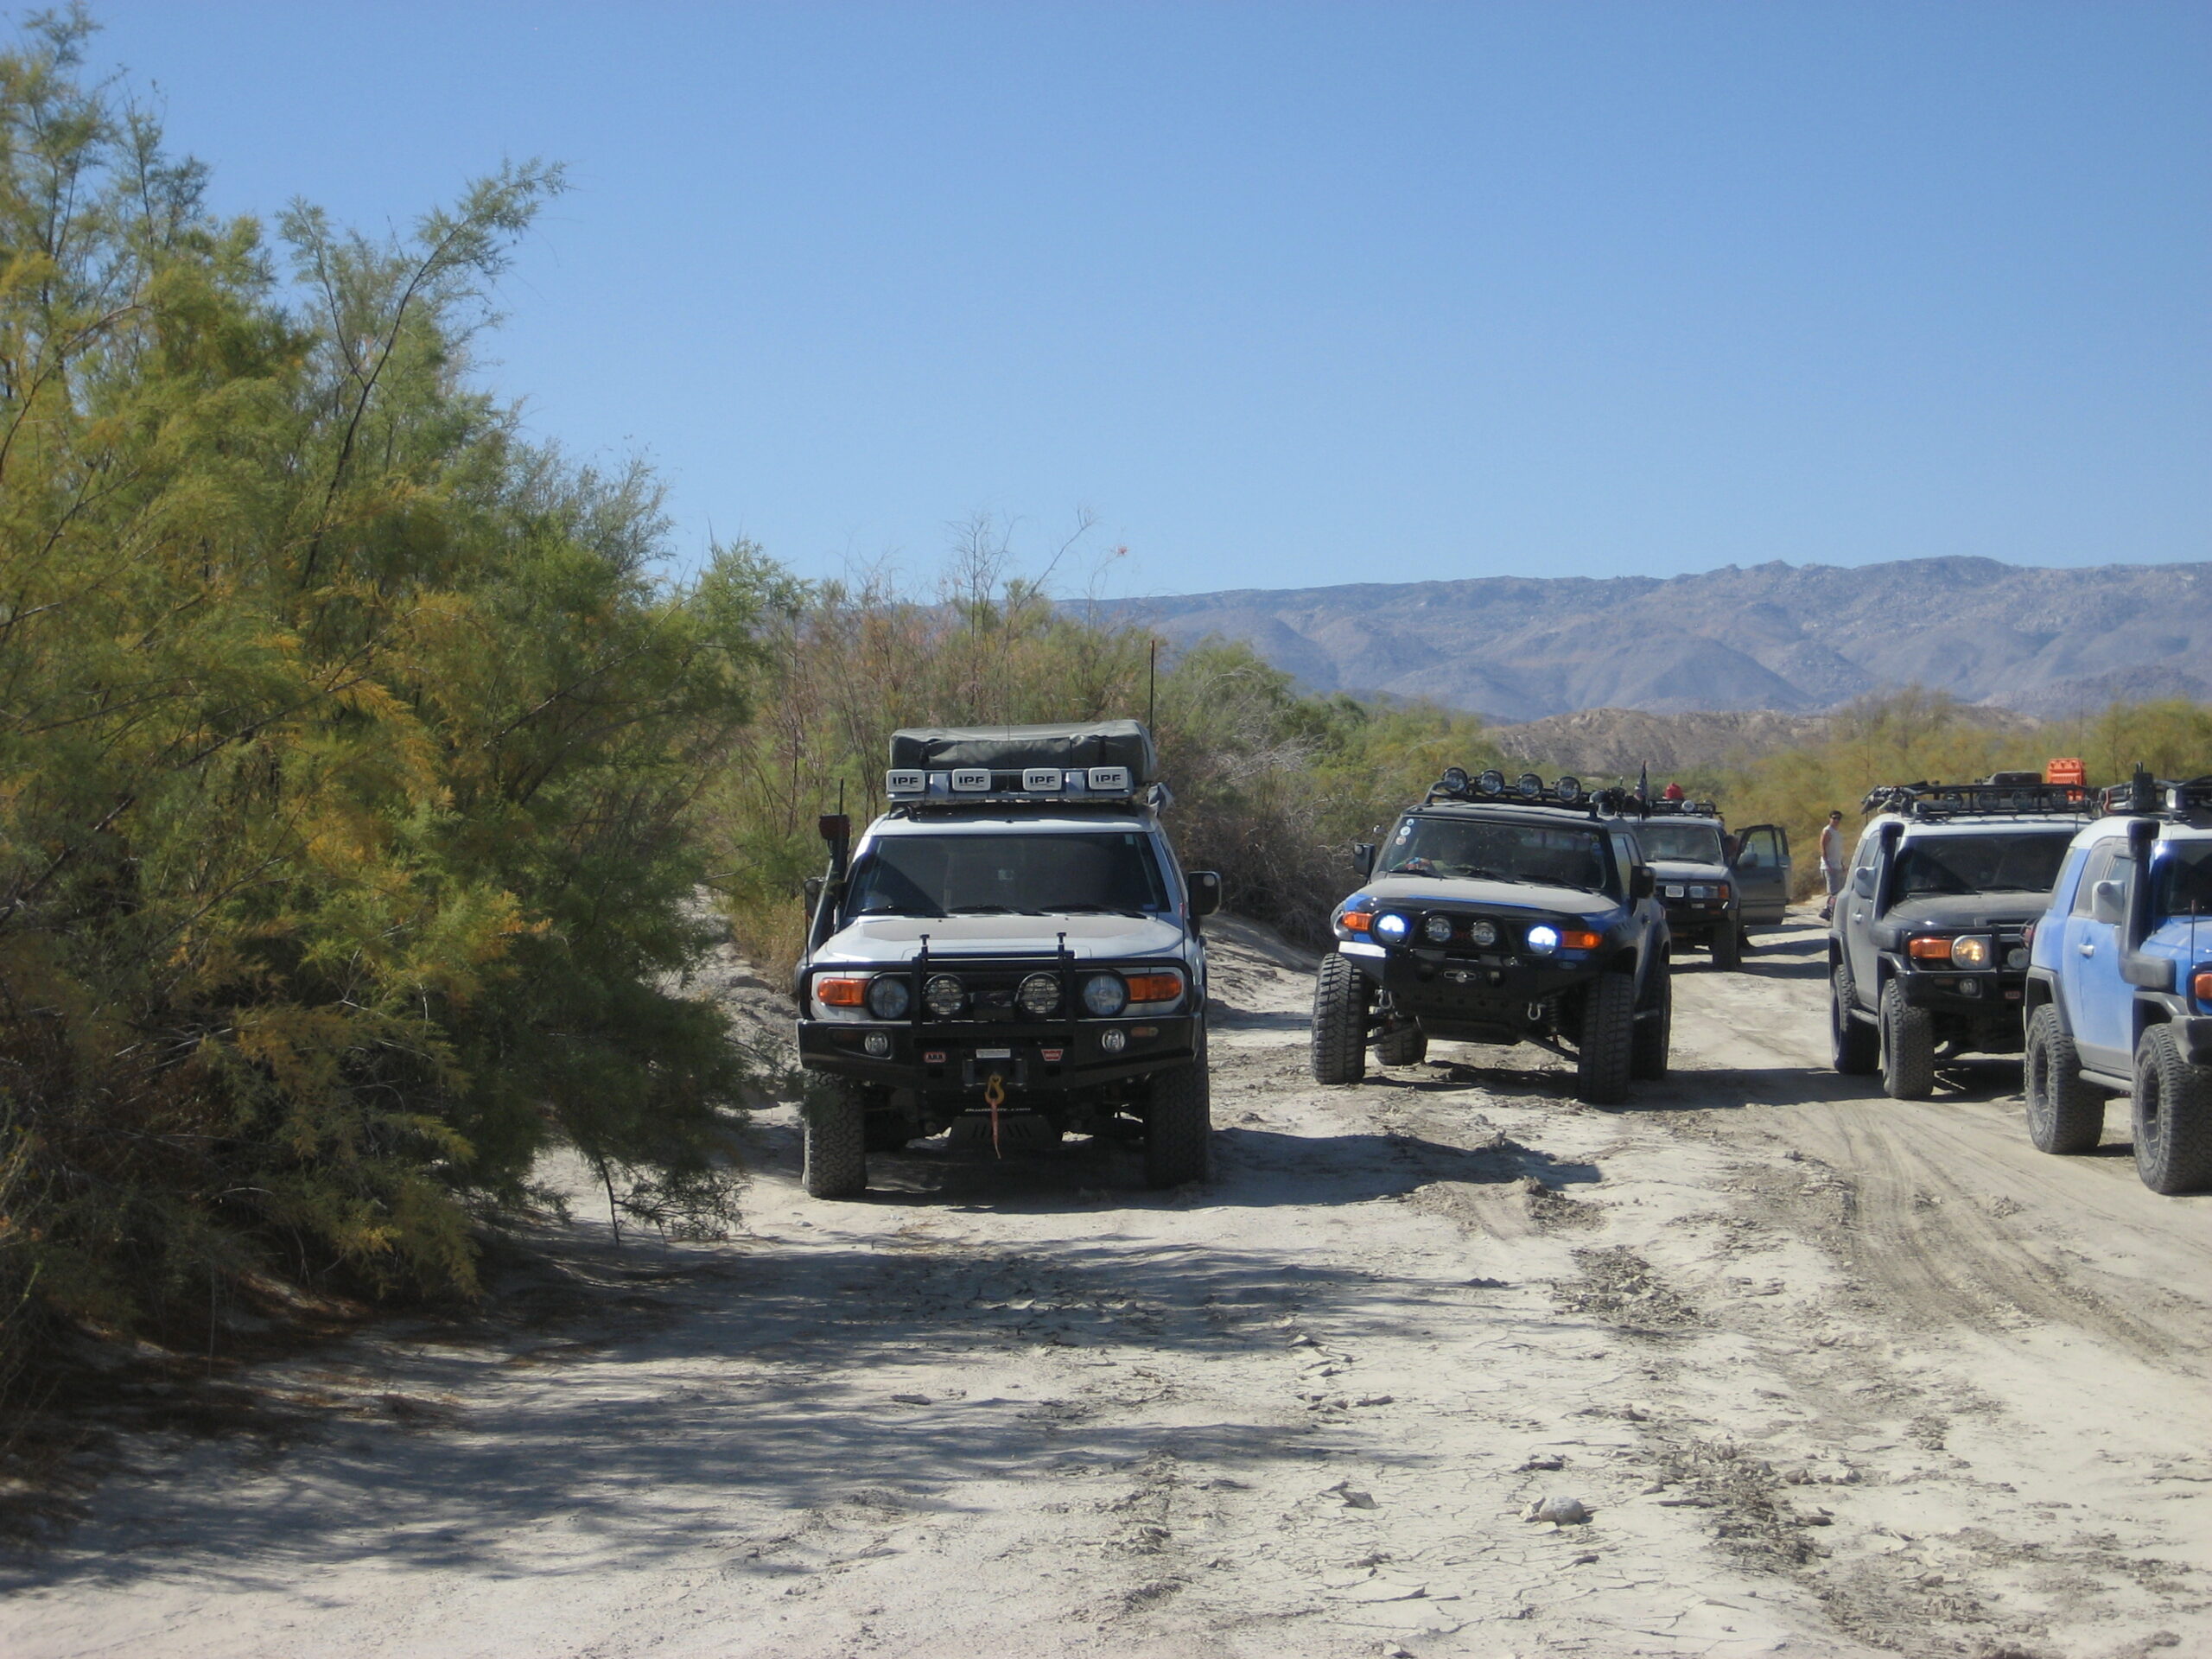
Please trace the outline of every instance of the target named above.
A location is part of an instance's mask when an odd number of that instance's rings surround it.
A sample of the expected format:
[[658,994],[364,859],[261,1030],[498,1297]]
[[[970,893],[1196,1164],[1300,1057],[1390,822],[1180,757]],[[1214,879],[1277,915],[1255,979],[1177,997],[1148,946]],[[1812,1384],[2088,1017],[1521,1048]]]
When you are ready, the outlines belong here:
[[2212,1190],[2212,776],[2106,792],[2075,836],[2028,962],[2028,1139],[2088,1152],[2135,1097],[2152,1192]]

